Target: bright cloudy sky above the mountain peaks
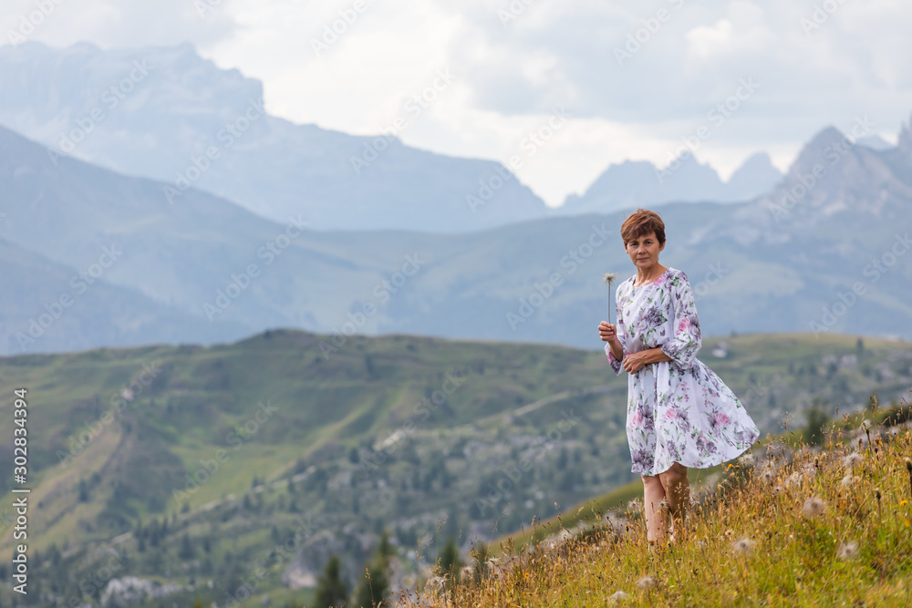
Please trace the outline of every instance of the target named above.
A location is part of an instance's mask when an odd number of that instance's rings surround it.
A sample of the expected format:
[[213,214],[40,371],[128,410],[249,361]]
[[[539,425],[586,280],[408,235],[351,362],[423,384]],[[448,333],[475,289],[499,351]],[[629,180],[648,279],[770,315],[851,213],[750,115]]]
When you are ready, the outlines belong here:
[[[667,165],[701,126],[696,156],[726,179],[758,150],[784,170],[815,132],[864,116],[895,141],[912,115],[912,6],[901,0],[2,5],[5,37],[43,5],[29,39],[51,46],[190,41],[261,79],[270,112],[298,123],[368,135],[403,116],[411,146],[504,164],[521,155],[520,178],[553,206],[612,162]],[[422,94],[416,117],[407,104]],[[536,131],[541,143],[523,145]]]

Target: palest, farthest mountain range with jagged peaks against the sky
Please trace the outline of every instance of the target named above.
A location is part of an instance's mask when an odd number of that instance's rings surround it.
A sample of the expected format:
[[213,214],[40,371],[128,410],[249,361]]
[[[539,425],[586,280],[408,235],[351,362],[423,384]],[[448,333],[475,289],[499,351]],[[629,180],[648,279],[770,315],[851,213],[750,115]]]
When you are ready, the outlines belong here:
[[[747,201],[782,178],[763,152],[727,182],[692,157],[673,170],[626,161],[551,209],[498,162],[411,148],[395,133],[358,137],[269,116],[260,81],[189,44],[0,46],[0,81],[15,85],[0,92],[0,125],[54,154],[162,181],[171,200],[192,186],[276,222],[303,213],[316,229],[472,232],[668,201]],[[445,95],[446,78],[435,82]],[[403,106],[394,130],[421,111]]]

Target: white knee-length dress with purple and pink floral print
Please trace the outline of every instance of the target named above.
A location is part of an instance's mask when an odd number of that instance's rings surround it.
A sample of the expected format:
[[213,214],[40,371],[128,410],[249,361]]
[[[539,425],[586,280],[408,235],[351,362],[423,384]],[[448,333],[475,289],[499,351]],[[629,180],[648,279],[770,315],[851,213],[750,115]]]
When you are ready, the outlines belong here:
[[[639,287],[635,278],[617,286],[617,338],[625,356],[660,347],[671,361],[628,376],[631,470],[658,475],[675,462],[706,469],[738,457],[760,430],[731,389],[697,359],[700,320],[687,274],[669,267]],[[605,352],[619,376],[624,367],[607,343]]]

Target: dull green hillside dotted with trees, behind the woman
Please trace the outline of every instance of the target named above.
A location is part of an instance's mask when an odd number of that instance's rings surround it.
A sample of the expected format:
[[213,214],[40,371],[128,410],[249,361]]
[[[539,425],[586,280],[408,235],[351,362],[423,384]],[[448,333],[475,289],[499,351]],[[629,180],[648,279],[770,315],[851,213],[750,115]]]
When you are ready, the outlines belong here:
[[[912,384],[904,343],[738,335],[713,356],[720,342],[706,339],[700,360],[764,431],[783,418],[802,426],[812,407],[890,402]],[[79,582],[114,549],[130,559],[109,578],[180,586],[162,605],[223,598],[254,564],[268,573],[256,597],[279,601],[289,586],[312,587],[332,553],[357,580],[384,530],[403,585],[448,538],[467,549],[634,479],[627,376],[600,351],[409,335],[331,344],[273,331],[233,345],[0,358],[5,394],[28,389],[29,541],[46,593],[82,597]],[[0,403],[8,417],[12,408]],[[11,504],[7,493],[4,551]]]

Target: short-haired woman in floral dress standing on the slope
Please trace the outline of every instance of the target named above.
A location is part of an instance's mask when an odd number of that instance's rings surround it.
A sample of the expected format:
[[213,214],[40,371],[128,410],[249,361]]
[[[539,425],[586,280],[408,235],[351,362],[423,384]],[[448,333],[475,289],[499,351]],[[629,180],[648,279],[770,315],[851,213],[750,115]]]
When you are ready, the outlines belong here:
[[[637,274],[617,286],[617,325],[598,333],[608,363],[627,370],[627,441],[643,479],[647,538],[664,542],[668,523],[683,522],[690,501],[688,467],[734,459],[760,437],[747,411],[719,376],[696,358],[700,320],[687,275],[658,263],[665,223],[638,209],[621,226]],[[674,528],[672,528],[672,531]],[[674,537],[672,536],[672,540]]]

